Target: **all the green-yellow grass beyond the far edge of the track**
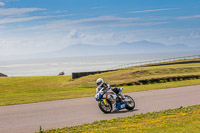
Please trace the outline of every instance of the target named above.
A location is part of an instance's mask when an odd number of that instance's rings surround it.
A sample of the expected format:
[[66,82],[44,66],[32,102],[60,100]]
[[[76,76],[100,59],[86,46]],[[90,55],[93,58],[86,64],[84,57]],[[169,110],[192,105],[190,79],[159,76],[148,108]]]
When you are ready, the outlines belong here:
[[[200,63],[177,64],[153,67],[132,67],[72,80],[71,76],[38,76],[0,78],[0,106],[43,102],[94,96],[97,78],[110,84],[130,83],[142,79],[169,76],[200,75]],[[125,86],[124,92],[198,85],[200,79]]]

